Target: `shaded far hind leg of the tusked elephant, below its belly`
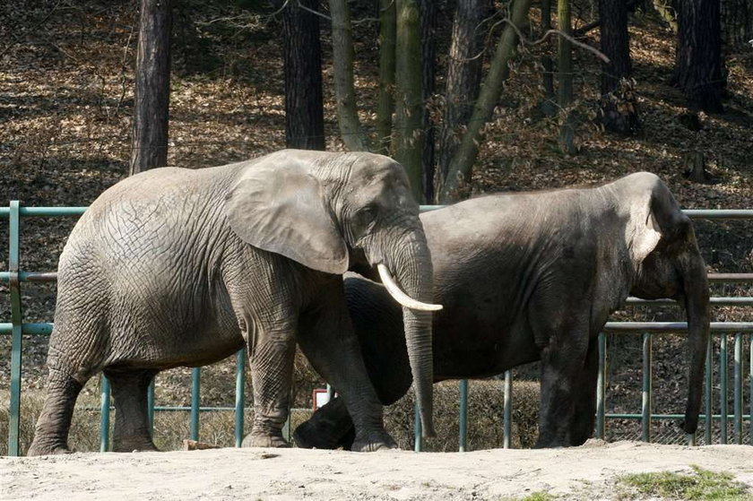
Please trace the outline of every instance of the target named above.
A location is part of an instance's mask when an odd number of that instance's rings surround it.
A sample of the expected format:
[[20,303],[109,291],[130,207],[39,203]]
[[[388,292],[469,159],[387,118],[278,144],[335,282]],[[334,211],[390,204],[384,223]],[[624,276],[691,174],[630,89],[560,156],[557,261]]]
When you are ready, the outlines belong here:
[[105,370],[115,399],[115,427],[112,450],[117,453],[133,451],[156,451],[151,440],[146,392],[152,370]]

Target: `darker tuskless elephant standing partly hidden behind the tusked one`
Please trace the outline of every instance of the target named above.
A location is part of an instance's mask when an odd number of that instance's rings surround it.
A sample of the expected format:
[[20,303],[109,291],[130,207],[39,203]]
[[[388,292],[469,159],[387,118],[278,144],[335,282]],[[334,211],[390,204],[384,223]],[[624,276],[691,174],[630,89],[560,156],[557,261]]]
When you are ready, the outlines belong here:
[[[649,173],[592,189],[496,194],[421,215],[434,263],[436,381],[497,375],[541,360],[538,447],[581,445],[593,432],[597,338],[628,294],[687,310],[690,360],[683,428],[697,428],[708,286],[693,227]],[[399,312],[384,288],[346,279],[346,296],[381,401],[411,384]],[[386,312],[386,313],[385,313]],[[295,432],[299,446],[348,446],[335,399]]]

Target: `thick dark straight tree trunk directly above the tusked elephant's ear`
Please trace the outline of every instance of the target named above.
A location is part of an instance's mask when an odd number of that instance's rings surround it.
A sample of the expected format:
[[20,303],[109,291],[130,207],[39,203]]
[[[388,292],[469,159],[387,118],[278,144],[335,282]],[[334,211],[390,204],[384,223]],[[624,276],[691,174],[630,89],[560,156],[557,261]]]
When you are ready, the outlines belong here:
[[[319,0],[289,2],[282,11],[285,61],[285,143],[302,150],[325,149]],[[278,2],[279,3],[279,2]]]

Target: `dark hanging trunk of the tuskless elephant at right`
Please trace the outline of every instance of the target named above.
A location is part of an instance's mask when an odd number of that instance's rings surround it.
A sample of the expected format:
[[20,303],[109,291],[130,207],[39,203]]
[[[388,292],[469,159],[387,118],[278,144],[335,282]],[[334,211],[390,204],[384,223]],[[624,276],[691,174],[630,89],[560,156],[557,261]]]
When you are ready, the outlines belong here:
[[709,339],[708,280],[705,263],[697,248],[680,263],[685,309],[688,315],[688,404],[682,428],[695,433],[704,393],[705,354]]

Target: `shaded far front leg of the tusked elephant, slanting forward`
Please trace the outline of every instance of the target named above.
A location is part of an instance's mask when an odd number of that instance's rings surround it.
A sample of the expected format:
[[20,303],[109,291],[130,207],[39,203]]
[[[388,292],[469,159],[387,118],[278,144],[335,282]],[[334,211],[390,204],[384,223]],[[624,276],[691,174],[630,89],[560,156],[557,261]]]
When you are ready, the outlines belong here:
[[[383,406],[368,378],[351,317],[344,307],[342,283],[327,289],[322,297],[326,304],[301,318],[301,350],[316,371],[342,396],[356,430],[351,450],[370,452],[395,448],[393,438],[385,431]],[[345,415],[342,418],[347,420]]]

